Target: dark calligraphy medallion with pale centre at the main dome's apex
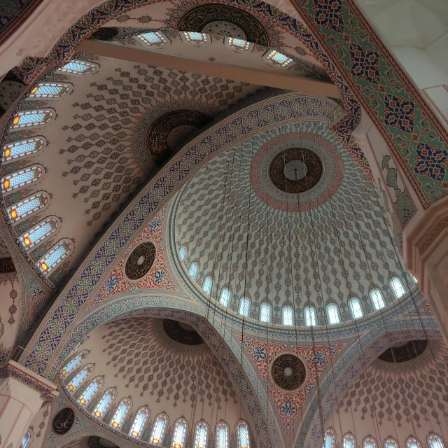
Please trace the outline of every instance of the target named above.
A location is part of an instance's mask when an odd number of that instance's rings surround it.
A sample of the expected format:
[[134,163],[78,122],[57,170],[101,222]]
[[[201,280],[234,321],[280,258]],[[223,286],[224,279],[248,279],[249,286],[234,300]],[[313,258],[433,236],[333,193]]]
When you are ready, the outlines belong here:
[[305,148],[282,151],[269,167],[269,177],[285,193],[304,193],[313,188],[323,174],[318,156]]

